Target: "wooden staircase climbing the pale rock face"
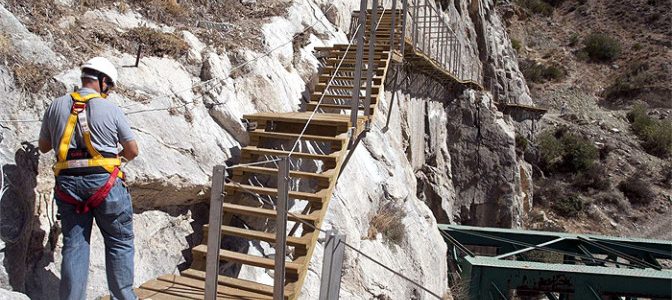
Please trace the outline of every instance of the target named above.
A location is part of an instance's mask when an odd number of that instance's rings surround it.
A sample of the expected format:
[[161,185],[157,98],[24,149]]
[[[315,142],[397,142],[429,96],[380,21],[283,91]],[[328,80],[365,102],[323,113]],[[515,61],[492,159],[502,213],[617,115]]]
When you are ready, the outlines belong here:
[[[389,13],[389,12],[388,12]],[[391,14],[390,14],[391,15]],[[398,14],[397,14],[398,15]],[[389,30],[391,18],[381,20],[381,38],[375,43],[374,64],[368,65],[368,45],[365,47],[362,84],[354,87],[356,45],[334,45],[318,48],[323,54],[325,66],[320,70],[319,82],[307,103],[307,112],[275,113],[263,112],[246,115],[245,118],[257,123],[256,130],[249,133],[250,144],[241,149],[240,164],[266,161],[290,154],[292,146],[307,125],[301,136],[301,147],[292,153],[290,162],[291,180],[300,180],[301,184],[290,184],[294,189],[289,192],[290,203],[305,204],[300,213],[288,216],[288,238],[290,257],[286,262],[285,297],[298,297],[308,273],[308,265],[317,244],[319,232],[307,224],[319,228],[329,207],[332,191],[336,185],[345,156],[349,139],[356,138],[364,130],[364,124],[375,116],[378,98],[384,91],[384,80],[390,64]],[[401,21],[396,21],[401,24]],[[370,33],[367,22],[367,36]],[[401,25],[399,25],[399,28]],[[383,31],[387,33],[383,33]],[[387,34],[387,37],[383,36]],[[340,64],[340,68],[337,66]],[[366,90],[366,72],[374,68],[371,93],[371,116],[364,116],[364,96]],[[331,80],[333,77],[333,80]],[[331,81],[331,82],[330,82]],[[354,91],[362,96],[358,106],[356,124],[350,118],[351,97]],[[322,102],[320,103],[320,99]],[[317,113],[312,117],[312,111]],[[310,122],[308,123],[310,119]],[[354,128],[354,132],[349,133]],[[306,147],[310,144],[311,147]],[[306,149],[316,149],[307,151]],[[235,216],[246,220],[245,223],[264,224],[275,222],[274,201],[277,197],[278,169],[274,163],[254,166],[242,166],[232,170],[231,181],[225,184],[227,196],[223,205],[223,236],[235,237],[257,243],[274,245],[275,233],[272,229],[235,227],[231,222]],[[260,185],[260,183],[263,183]],[[250,200],[249,195],[254,200]],[[256,198],[256,199],[255,199]],[[265,200],[259,200],[265,199]],[[240,223],[240,222],[237,222]],[[208,226],[204,232],[207,235]],[[300,229],[300,230],[299,230]],[[203,299],[206,253],[219,251],[219,259],[230,265],[245,265],[254,268],[273,270],[274,259],[224,249],[207,249],[207,239],[193,248],[191,268],[181,275],[164,275],[144,283],[137,289],[141,299]],[[218,299],[272,299],[273,286],[250,280],[220,275],[218,278]]]

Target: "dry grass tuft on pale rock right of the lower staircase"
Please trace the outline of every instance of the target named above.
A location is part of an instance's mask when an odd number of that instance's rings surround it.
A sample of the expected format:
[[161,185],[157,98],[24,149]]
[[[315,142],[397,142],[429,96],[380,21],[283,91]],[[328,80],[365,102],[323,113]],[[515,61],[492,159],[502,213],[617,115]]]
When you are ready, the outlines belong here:
[[404,217],[406,217],[406,213],[401,210],[401,207],[393,203],[382,206],[378,210],[378,214],[369,222],[368,238],[373,240],[378,233],[382,233],[386,241],[401,244],[406,238],[406,231],[404,231],[402,222]]

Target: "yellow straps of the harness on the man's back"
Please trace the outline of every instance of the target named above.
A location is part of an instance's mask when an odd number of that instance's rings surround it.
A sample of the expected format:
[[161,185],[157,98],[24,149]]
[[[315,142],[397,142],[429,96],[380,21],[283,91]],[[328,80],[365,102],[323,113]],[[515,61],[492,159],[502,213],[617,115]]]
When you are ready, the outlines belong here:
[[[84,167],[103,167],[106,171],[112,173],[114,168],[117,168],[121,165],[121,159],[117,158],[105,158],[103,157],[93,144],[91,143],[91,131],[89,130],[89,122],[86,116],[86,106],[87,102],[93,98],[101,98],[100,94],[89,94],[82,97],[79,93],[74,92],[70,94],[72,100],[74,101],[72,109],[70,111],[70,116],[68,117],[68,122],[63,131],[63,136],[61,141],[58,144],[57,149],[57,162],[54,165],[54,174],[58,176],[61,170],[70,169],[70,168],[84,168]],[[79,127],[82,130],[82,137],[84,138],[84,144],[86,144],[86,150],[89,152],[91,159],[73,159],[68,160],[68,150],[70,148],[70,141],[72,140],[72,134],[75,132],[75,126],[79,123]],[[123,172],[119,172],[119,178],[124,178]]]

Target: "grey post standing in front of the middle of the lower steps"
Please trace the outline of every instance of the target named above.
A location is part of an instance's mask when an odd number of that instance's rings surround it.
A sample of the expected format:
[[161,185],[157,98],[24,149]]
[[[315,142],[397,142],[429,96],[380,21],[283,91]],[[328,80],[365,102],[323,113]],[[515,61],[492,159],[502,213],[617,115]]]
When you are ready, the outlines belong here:
[[275,272],[273,299],[285,299],[285,256],[287,250],[287,200],[289,198],[289,158],[278,162],[278,200],[275,204]]

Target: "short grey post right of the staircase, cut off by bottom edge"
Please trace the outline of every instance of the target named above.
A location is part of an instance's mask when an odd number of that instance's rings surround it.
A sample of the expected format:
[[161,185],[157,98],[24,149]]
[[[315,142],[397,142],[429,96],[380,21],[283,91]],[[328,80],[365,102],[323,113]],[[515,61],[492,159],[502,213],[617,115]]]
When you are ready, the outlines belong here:
[[341,289],[341,270],[343,269],[343,252],[345,235],[336,231],[327,231],[322,259],[322,278],[320,283],[320,300],[337,300]]

